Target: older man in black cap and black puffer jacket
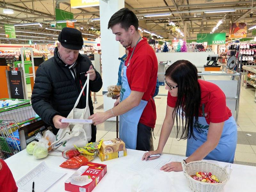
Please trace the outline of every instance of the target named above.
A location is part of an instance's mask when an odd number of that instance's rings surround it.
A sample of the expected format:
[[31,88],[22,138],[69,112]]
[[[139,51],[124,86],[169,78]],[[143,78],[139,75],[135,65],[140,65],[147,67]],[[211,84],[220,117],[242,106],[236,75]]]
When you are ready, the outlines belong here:
[[[53,127],[53,133],[68,126],[61,119],[68,116],[90,73],[89,94],[84,92],[77,108],[85,108],[89,97],[89,108],[93,114],[91,91],[102,87],[100,74],[93,68],[91,60],[79,53],[84,44],[82,33],[74,28],[63,28],[58,37],[54,57],[44,61],[36,71],[32,92],[32,107],[42,120]],[[86,88],[85,88],[86,90]],[[92,125],[92,139],[96,140],[96,126]]]

